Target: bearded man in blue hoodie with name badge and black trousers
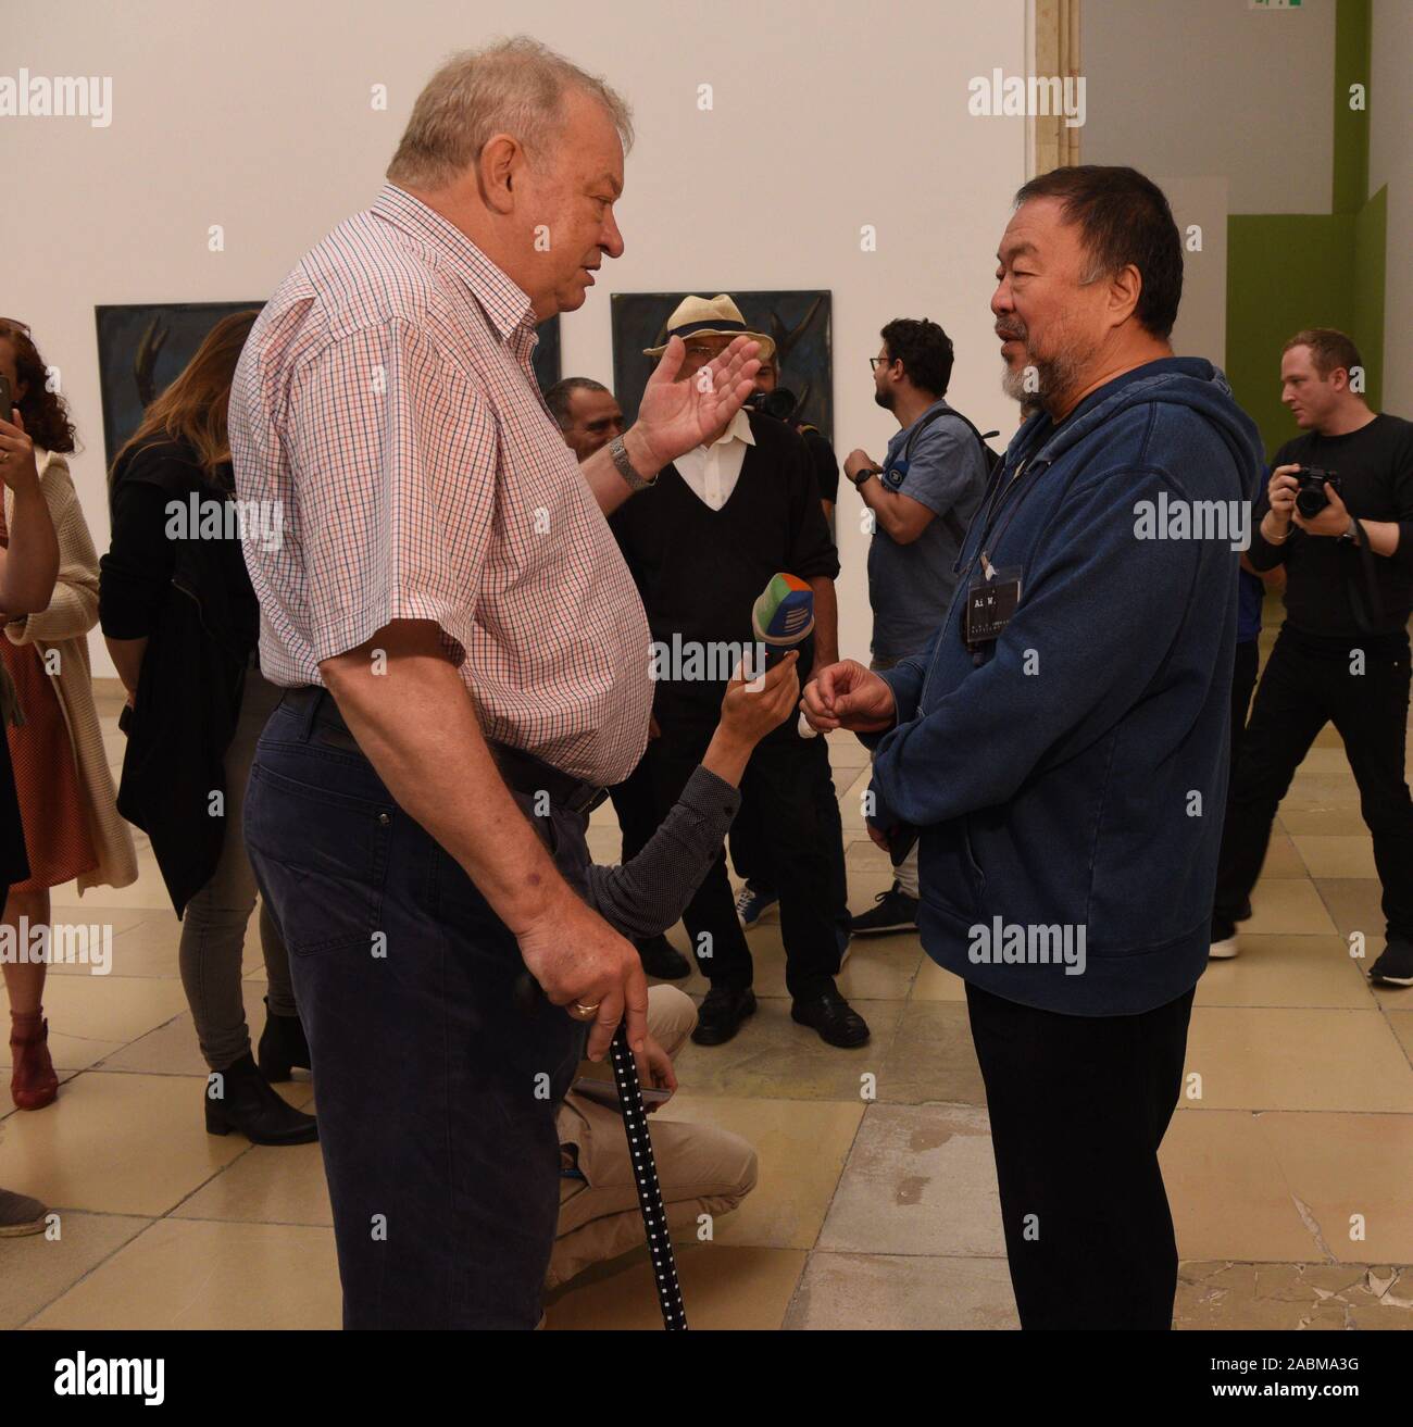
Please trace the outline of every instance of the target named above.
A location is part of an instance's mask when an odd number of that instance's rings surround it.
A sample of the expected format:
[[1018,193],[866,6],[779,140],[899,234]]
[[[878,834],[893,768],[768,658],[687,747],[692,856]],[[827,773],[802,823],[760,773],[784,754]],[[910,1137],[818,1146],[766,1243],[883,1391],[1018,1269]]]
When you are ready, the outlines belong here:
[[1029,420],[926,654],[802,706],[876,736],[922,943],[966,980],[1023,1327],[1172,1321],[1158,1147],[1207,960],[1255,424],[1173,357],[1182,244],[1132,168],[1028,183],[991,300]]

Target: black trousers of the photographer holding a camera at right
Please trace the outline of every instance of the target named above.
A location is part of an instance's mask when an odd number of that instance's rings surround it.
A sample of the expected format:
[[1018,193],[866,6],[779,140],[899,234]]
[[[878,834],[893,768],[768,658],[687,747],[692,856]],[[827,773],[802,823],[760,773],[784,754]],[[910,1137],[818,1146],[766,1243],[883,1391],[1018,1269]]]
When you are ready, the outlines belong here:
[[1333,722],[1359,785],[1383,883],[1386,935],[1413,939],[1413,802],[1403,773],[1409,718],[1409,641],[1313,641],[1283,628],[1242,739],[1222,833],[1213,936],[1229,935],[1250,896],[1270,826],[1316,735]]

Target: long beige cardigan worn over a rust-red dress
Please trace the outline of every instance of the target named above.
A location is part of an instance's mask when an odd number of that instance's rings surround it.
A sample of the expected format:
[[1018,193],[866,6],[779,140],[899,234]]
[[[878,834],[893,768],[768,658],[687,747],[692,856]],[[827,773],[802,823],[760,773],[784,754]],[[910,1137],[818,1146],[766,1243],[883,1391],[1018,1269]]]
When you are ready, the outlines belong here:
[[[34,448],[40,489],[59,537],[59,584],[49,608],[4,626],[11,644],[33,644],[40,655],[57,651],[54,692],[69,725],[69,741],[78,769],[78,792],[88,818],[88,833],[98,865],[78,878],[78,890],[126,888],[137,880],[133,835],[118,816],[108,759],[103,751],[98,711],[93,705],[88,666],[88,631],[98,622],[98,557],[83,518],[83,507],[69,475],[69,462],[53,451]],[[4,488],[4,518],[14,518],[14,491]]]

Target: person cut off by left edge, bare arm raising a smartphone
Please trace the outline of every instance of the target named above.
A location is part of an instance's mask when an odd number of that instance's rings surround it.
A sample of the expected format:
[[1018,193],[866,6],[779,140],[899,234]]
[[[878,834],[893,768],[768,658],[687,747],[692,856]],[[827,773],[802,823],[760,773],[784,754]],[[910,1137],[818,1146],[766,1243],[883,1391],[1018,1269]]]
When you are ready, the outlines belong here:
[[[0,371],[0,481],[10,507],[9,539],[0,549],[0,606],[27,615],[49,604],[59,578],[59,541],[39,484],[34,442],[24,431],[24,417],[11,405],[13,391],[10,375]],[[14,682],[0,665],[0,719],[9,728],[19,716]],[[10,745],[0,738],[0,879],[10,886],[29,875]],[[37,1234],[43,1229],[44,1206],[37,1199],[0,1189],[0,1237]]]

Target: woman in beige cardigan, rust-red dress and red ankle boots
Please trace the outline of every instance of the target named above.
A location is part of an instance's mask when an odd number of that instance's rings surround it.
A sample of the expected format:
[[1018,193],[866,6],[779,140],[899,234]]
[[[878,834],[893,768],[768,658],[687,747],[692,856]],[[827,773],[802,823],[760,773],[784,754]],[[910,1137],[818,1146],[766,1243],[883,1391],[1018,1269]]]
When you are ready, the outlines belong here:
[[[10,1096],[41,1110],[59,1095],[43,996],[47,963],[33,952],[51,936],[50,889],[77,878],[78,892],[137,879],[133,838],[113,802],[113,779],[88,669],[88,631],[98,622],[98,557],[74,494],[66,455],[74,428],[29,327],[0,318],[6,377],[33,442],[39,487],[59,542],[59,579],[43,609],[6,611],[0,662],[19,695],[23,723],[6,729],[14,766],[29,875],[9,883],[4,925],[26,955],[4,963],[10,996]],[[17,495],[6,488],[0,545],[9,544]]]

